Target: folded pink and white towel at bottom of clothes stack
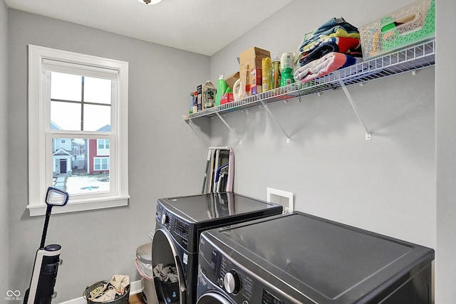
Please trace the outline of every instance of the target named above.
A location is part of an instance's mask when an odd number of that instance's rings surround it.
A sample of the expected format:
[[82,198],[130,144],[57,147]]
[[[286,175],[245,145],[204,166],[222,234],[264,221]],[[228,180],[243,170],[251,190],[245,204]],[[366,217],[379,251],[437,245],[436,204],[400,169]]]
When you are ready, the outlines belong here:
[[315,78],[328,75],[334,70],[355,64],[356,58],[343,53],[328,53],[325,56],[311,61],[294,71],[294,79],[306,83]]

